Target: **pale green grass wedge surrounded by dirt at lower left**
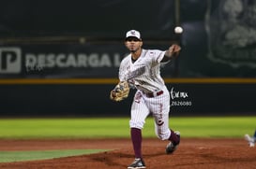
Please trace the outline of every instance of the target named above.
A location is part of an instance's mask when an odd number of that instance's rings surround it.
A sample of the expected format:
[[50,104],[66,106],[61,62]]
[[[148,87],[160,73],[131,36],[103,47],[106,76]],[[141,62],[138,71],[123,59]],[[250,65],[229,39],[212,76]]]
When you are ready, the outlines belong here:
[[[107,150],[107,149],[105,149]],[[104,149],[61,149],[61,150],[38,150],[38,151],[0,151],[0,162],[36,161],[68,156],[92,154]]]

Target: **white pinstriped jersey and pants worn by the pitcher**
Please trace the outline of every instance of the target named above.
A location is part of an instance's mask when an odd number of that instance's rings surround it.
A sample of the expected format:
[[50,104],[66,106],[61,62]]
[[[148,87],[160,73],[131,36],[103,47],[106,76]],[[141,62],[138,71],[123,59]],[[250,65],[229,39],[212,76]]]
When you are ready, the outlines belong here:
[[158,49],[143,49],[135,62],[129,54],[119,67],[119,80],[128,80],[130,86],[137,89],[131,106],[130,128],[143,129],[146,117],[152,113],[155,132],[161,140],[167,140],[171,134],[170,92],[160,77],[160,62],[164,53]]

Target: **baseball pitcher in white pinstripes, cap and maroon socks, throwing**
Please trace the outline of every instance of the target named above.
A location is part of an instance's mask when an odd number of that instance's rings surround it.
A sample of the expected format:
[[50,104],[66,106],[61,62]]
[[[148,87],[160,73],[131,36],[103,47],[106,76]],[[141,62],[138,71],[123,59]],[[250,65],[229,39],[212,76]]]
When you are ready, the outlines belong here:
[[170,92],[160,76],[160,63],[172,62],[178,56],[180,46],[173,44],[167,50],[143,49],[140,32],[130,30],[126,34],[125,45],[130,51],[119,67],[120,82],[110,94],[113,101],[128,97],[130,88],[137,89],[130,110],[130,137],[135,160],[128,169],[145,168],[142,154],[142,129],[147,116],[155,119],[155,132],[159,139],[169,140],[165,151],[173,153],[180,143],[179,132],[169,128]]

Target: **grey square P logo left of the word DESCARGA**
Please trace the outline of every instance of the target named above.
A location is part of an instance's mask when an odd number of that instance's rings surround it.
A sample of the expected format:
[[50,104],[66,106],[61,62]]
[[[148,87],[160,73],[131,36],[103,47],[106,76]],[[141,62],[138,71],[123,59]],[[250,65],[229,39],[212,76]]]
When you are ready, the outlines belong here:
[[22,51],[20,48],[0,48],[0,74],[22,71]]

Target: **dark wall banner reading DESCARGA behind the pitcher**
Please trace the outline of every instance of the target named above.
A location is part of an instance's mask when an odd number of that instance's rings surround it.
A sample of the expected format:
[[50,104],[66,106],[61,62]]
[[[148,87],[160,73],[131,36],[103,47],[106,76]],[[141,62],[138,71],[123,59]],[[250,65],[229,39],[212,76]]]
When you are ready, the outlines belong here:
[[[0,77],[117,77],[119,64],[127,54],[123,42],[0,46]],[[170,77],[173,65],[163,66],[166,76]]]

